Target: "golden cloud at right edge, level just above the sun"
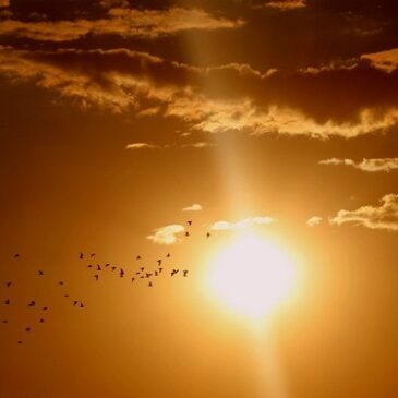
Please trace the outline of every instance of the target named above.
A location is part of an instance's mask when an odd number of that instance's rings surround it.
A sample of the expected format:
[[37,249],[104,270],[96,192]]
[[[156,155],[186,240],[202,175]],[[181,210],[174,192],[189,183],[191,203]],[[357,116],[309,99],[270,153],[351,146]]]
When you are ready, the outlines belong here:
[[362,206],[357,210],[339,210],[330,224],[354,224],[370,229],[398,231],[398,194],[382,197],[381,205]]

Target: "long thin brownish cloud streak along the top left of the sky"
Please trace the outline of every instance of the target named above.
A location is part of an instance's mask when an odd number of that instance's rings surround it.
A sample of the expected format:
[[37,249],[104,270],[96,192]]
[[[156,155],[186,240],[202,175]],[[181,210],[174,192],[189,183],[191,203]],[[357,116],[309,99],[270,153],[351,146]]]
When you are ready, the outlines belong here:
[[76,19],[73,21],[19,21],[4,20],[0,24],[0,35],[24,37],[33,40],[67,41],[86,35],[118,35],[122,37],[146,37],[176,34],[181,31],[237,28],[242,20],[213,16],[203,10],[170,8],[166,10],[136,10],[114,8],[106,19]]

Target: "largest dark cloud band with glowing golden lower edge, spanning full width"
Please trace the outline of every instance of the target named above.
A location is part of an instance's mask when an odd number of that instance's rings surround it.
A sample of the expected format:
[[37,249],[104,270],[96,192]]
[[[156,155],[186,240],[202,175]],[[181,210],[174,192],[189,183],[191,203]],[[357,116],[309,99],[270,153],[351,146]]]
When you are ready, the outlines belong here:
[[398,123],[398,72],[369,63],[261,72],[237,63],[192,67],[128,49],[0,47],[0,75],[35,82],[83,109],[178,118],[210,133],[351,138]]

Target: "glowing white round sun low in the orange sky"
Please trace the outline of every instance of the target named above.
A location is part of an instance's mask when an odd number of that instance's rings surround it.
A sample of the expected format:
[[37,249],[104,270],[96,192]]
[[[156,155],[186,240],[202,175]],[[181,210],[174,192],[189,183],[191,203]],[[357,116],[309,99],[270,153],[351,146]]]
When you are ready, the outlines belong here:
[[260,236],[243,234],[220,250],[210,263],[213,293],[230,309],[264,318],[291,294],[296,281],[292,258]]

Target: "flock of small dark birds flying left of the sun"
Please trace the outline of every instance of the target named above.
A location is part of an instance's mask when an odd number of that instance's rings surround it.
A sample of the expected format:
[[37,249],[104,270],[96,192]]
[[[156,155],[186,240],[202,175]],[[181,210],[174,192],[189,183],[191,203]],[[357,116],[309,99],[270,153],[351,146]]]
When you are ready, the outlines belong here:
[[[191,227],[192,220],[186,221],[186,224],[189,227]],[[186,238],[190,237],[191,236],[190,230],[186,230],[184,232],[184,234]],[[209,232],[206,233],[206,238],[210,238]],[[13,255],[14,261],[17,261],[20,257],[21,257],[20,253],[15,253]],[[147,268],[144,265],[140,265],[140,267],[136,270],[134,270],[132,274],[130,274],[129,276],[128,276],[126,272],[123,269],[123,267],[117,266],[111,263],[105,263],[105,264],[96,263],[95,262],[96,257],[97,257],[96,253],[89,253],[89,254],[80,253],[79,254],[80,261],[89,260],[89,264],[87,265],[87,268],[93,272],[92,278],[94,279],[95,282],[98,282],[106,276],[113,275],[119,278],[125,278],[125,279],[130,280],[131,284],[133,284],[133,285],[136,285],[140,282],[141,284],[145,282],[148,288],[153,288],[156,279],[158,279],[160,277],[166,277],[166,276],[176,277],[177,275],[180,275],[183,278],[186,278],[189,276],[189,269],[180,269],[180,268],[170,267],[170,265],[171,265],[169,262],[169,258],[171,257],[170,253],[167,253],[165,258],[158,258],[156,261],[156,266],[154,266],[152,268],[149,268],[149,267]],[[140,254],[136,255],[135,260],[137,262],[143,262],[143,258]],[[96,264],[94,264],[94,263],[96,263]],[[38,269],[36,272],[36,277],[44,278],[45,276],[46,276],[46,273],[43,269]],[[74,307],[80,309],[80,310],[83,310],[86,307],[85,303],[82,300],[77,300],[76,298],[72,299],[70,297],[70,294],[64,290],[65,289],[64,280],[58,280],[58,281],[52,280],[52,284],[57,284],[58,288],[60,289],[60,293],[63,296],[64,299],[69,300],[71,305],[73,305]],[[13,300],[11,299],[11,297],[12,297],[11,291],[14,287],[14,281],[7,280],[2,285],[3,285],[3,288],[8,292],[5,299],[3,299],[3,301],[2,301],[2,304],[3,304],[3,306],[10,307],[14,304]],[[44,324],[46,322],[45,314],[47,314],[49,312],[49,305],[39,304],[37,302],[37,300],[29,300],[25,305],[28,309],[32,309],[32,310],[36,309],[39,311],[39,314],[37,315],[37,318],[36,318],[37,324]],[[3,325],[7,325],[10,323],[8,317],[1,317],[1,312],[0,312],[0,322]],[[31,334],[32,330],[33,330],[32,324],[26,325],[24,328],[25,334]],[[22,345],[23,339],[16,340],[16,343]]]

